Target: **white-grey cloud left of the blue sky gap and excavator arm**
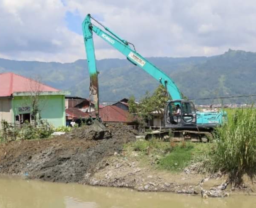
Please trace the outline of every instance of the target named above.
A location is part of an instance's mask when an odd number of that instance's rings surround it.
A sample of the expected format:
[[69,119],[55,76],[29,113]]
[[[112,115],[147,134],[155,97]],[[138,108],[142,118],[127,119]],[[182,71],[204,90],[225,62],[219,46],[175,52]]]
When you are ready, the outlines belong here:
[[67,29],[66,11],[60,0],[0,0],[0,53],[16,60],[77,60],[83,38]]

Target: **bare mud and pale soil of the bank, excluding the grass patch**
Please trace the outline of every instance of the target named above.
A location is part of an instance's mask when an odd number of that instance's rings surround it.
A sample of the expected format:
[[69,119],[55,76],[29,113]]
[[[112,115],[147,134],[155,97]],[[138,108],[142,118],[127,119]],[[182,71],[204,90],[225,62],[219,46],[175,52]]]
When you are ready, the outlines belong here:
[[228,195],[226,186],[224,190],[223,186],[210,188],[212,184],[205,185],[207,180],[203,184],[204,175],[190,171],[175,174],[141,166],[137,154],[129,156],[123,151],[124,144],[136,140],[135,135],[135,131],[120,123],[107,126],[100,133],[93,126],[84,126],[47,140],[1,144],[0,174],[52,182],[129,187],[147,192],[193,195],[201,192],[202,197]]

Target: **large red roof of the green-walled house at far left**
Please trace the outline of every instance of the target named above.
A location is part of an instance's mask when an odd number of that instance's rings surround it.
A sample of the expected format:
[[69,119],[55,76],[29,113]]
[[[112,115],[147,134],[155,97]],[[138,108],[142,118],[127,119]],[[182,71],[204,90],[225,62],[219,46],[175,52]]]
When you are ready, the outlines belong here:
[[59,90],[36,82],[35,80],[22,77],[14,73],[0,74],[0,97],[11,96],[14,92],[58,92]]

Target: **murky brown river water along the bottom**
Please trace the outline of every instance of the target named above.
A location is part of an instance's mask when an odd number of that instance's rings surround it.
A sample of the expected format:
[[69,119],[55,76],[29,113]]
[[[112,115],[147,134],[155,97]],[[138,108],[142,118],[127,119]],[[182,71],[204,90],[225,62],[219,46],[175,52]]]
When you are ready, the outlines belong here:
[[256,208],[256,196],[202,199],[173,193],[0,177],[0,208]]

